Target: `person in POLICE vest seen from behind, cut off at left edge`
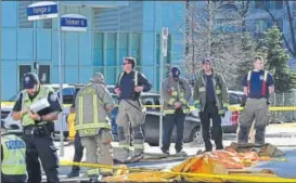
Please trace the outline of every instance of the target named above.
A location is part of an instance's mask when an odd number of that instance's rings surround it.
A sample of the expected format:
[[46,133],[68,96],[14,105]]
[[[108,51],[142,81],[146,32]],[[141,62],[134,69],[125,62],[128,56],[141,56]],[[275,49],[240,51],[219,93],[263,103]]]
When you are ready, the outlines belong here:
[[7,130],[8,127],[1,120],[1,182],[24,183],[27,178],[26,144]]

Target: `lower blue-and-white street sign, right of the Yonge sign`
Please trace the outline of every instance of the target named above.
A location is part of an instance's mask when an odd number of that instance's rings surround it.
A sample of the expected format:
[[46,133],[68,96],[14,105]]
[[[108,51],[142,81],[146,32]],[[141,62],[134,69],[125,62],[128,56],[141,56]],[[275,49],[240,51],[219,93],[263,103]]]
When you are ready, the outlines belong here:
[[79,14],[65,14],[61,16],[61,29],[64,31],[87,31],[88,21]]

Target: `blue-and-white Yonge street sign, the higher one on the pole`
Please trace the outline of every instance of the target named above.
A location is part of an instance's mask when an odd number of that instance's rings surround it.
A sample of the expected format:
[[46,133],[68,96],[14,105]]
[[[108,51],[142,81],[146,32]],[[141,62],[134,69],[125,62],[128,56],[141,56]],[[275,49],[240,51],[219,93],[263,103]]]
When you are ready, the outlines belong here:
[[27,6],[28,21],[54,18],[57,13],[56,2],[42,1]]

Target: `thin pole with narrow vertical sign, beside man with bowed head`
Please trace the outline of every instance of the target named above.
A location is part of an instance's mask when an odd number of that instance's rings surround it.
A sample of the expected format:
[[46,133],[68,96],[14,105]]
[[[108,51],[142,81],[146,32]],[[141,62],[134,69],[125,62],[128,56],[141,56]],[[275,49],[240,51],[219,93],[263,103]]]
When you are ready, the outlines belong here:
[[160,92],[160,116],[159,116],[159,147],[163,146],[163,116],[164,116],[164,99],[162,96],[162,83],[164,80],[164,56],[167,56],[167,39],[168,39],[168,27],[163,27],[163,31],[162,31],[162,50],[163,50],[163,54],[160,55],[160,70],[159,70],[159,92]]

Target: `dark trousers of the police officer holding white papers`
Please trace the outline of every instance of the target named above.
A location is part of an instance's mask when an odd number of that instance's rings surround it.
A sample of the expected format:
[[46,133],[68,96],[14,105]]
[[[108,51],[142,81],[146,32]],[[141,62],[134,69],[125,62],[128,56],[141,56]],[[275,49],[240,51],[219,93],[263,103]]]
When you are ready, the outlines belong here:
[[59,160],[56,148],[53,145],[53,139],[50,135],[39,136],[34,134],[24,134],[23,140],[26,143],[26,165],[28,172],[28,183],[40,183],[41,167],[47,175],[48,183],[60,183]]

